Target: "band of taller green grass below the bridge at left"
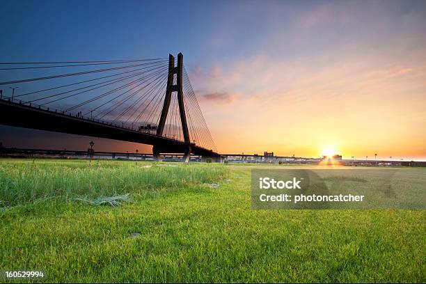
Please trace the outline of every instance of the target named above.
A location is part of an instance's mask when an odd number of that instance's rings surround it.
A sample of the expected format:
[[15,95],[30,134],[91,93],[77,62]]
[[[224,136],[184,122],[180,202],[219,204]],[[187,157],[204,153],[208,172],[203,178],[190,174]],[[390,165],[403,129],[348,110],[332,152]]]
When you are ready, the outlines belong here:
[[134,161],[95,161],[90,167],[84,160],[2,160],[0,205],[31,203],[52,197],[143,195],[217,182],[227,175],[228,169],[217,164],[169,166],[140,161],[136,166]]

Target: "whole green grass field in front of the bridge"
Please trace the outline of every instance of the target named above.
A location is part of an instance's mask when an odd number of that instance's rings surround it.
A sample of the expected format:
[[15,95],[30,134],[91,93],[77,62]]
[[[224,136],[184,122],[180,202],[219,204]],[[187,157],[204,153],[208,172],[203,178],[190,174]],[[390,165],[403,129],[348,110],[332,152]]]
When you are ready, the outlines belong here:
[[[251,168],[0,160],[0,270],[42,269],[49,282],[426,281],[425,210],[251,210]],[[132,202],[75,200],[122,194]]]

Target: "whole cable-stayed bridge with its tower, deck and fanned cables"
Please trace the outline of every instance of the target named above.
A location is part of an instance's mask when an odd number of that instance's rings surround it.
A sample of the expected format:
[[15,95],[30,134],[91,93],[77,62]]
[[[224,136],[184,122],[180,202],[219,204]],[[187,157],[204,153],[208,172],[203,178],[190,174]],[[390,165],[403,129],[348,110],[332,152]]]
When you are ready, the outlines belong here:
[[[0,124],[153,145],[219,161],[183,65],[168,58],[0,63]],[[17,79],[18,78],[18,79]],[[6,95],[7,93],[7,95]]]

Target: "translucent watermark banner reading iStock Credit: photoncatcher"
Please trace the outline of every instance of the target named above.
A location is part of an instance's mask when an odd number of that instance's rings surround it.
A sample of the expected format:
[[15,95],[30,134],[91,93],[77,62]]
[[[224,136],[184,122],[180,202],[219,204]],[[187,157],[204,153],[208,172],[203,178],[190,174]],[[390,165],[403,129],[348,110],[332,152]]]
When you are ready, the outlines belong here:
[[253,209],[426,209],[426,172],[412,168],[253,169]]

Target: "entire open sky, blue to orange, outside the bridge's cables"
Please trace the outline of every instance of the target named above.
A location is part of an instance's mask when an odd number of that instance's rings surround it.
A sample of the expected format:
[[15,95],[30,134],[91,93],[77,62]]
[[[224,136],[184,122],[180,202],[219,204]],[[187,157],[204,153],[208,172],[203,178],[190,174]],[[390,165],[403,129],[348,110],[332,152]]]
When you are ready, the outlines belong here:
[[[384,156],[426,157],[426,131],[413,127],[426,123],[426,1],[1,1],[0,8],[3,62],[182,52],[222,152],[316,156],[333,145],[351,156],[390,141]],[[406,114],[396,120],[400,110]]]

